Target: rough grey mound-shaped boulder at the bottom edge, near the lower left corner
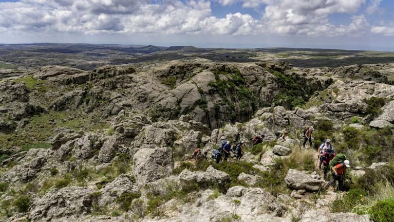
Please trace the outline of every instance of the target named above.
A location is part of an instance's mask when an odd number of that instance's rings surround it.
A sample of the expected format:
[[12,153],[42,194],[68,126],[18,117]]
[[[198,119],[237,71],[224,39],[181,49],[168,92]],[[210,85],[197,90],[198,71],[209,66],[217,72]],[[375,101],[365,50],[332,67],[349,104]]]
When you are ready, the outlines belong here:
[[[30,206],[31,221],[71,221],[90,212],[94,195],[82,187],[52,189]],[[62,218],[62,219],[59,219]]]

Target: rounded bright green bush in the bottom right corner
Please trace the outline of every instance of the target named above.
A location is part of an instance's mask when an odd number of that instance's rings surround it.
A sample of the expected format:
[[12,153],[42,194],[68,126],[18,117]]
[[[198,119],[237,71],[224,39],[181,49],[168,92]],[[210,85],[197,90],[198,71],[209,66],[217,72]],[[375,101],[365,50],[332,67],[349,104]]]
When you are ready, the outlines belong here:
[[394,218],[394,198],[380,200],[370,210],[370,219],[375,222],[389,222]]

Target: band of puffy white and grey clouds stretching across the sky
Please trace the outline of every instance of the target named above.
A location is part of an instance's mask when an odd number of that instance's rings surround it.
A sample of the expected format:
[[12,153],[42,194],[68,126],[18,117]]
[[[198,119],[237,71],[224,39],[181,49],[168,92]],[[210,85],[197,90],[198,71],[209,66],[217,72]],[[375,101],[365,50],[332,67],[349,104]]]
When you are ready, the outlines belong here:
[[[393,36],[394,23],[370,24],[381,0],[21,0],[0,3],[3,34],[181,34]],[[250,13],[215,16],[213,5]],[[333,22],[346,14],[347,24]]]

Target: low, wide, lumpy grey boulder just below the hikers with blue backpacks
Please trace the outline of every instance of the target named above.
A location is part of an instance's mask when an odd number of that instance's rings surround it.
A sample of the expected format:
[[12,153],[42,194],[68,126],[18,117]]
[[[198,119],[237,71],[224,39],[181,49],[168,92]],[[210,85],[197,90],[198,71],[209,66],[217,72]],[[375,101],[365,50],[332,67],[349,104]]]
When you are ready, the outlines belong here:
[[181,184],[190,184],[191,182],[197,183],[198,187],[203,189],[217,187],[221,192],[225,192],[231,182],[229,174],[214,169],[212,165],[210,165],[205,172],[191,172],[184,169],[179,174],[179,180]]

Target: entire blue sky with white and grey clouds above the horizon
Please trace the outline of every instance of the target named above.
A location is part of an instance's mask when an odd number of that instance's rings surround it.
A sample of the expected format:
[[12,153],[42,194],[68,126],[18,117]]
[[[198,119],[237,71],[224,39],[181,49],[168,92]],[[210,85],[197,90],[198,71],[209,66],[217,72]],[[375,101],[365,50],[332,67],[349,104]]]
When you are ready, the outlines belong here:
[[0,43],[394,51],[393,0],[0,0]]

